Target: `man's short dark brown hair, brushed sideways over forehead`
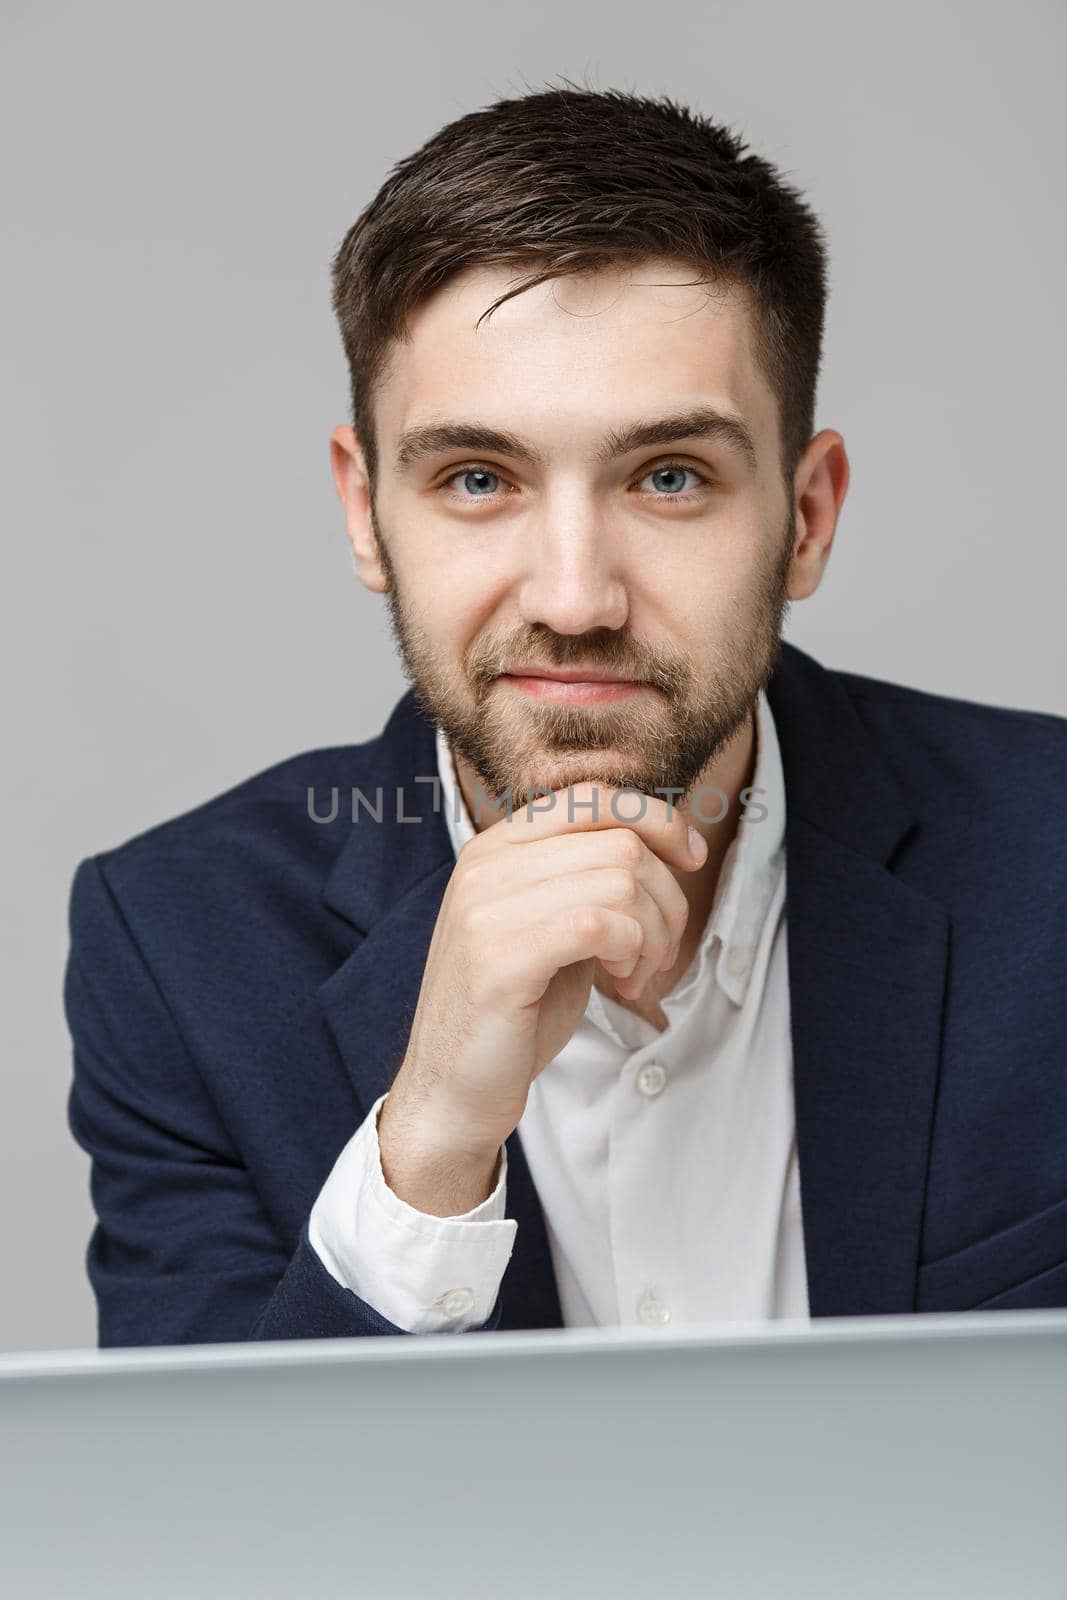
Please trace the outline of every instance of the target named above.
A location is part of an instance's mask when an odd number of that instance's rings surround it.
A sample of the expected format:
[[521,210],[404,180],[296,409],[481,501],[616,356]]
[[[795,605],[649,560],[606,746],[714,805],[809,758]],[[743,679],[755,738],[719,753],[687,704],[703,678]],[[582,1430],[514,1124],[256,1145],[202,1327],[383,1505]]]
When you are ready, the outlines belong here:
[[669,98],[568,85],[459,117],[398,162],[333,261],[371,491],[373,394],[389,347],[448,278],[474,266],[533,269],[480,323],[545,278],[651,256],[747,291],[792,488],[814,430],[825,242],[800,192],[744,150],[736,134]]

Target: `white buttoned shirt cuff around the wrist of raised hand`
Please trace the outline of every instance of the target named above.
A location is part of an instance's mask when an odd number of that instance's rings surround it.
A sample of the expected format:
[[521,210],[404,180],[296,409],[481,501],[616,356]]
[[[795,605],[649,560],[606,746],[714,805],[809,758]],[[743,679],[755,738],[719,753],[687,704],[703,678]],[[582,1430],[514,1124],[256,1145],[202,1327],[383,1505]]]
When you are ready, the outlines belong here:
[[381,1094],[352,1134],[309,1218],[330,1275],[406,1333],[466,1333],[488,1322],[515,1246],[506,1218],[507,1146],[496,1187],[462,1216],[430,1216],[394,1194],[378,1144]]

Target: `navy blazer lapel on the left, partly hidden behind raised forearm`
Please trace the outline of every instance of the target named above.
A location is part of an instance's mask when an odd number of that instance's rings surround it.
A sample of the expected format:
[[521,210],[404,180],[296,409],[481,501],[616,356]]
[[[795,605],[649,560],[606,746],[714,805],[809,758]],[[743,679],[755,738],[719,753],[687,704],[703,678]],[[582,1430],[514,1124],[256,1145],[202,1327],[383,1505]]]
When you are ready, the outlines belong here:
[[[422,971],[448,880],[456,866],[434,782],[434,726],[411,690],[374,746],[363,794],[381,822],[358,808],[323,902],[362,934],[320,986],[318,1002],[362,1114],[392,1085],[403,1061]],[[349,797],[341,803],[347,805]],[[563,1315],[544,1226],[518,1130],[507,1139],[507,1216],[518,1222],[502,1285],[499,1328],[561,1328]]]

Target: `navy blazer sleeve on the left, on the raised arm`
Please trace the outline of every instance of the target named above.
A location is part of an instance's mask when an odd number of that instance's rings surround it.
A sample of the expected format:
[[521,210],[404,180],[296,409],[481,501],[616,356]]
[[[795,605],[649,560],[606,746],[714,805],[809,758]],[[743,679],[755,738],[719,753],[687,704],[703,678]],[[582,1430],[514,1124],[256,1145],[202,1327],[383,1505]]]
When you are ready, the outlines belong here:
[[[69,904],[70,1131],[91,1160],[86,1269],[101,1347],[405,1333],[267,1216],[101,858]],[[278,1134],[283,1136],[283,1130]],[[491,1333],[488,1320],[469,1331]]]

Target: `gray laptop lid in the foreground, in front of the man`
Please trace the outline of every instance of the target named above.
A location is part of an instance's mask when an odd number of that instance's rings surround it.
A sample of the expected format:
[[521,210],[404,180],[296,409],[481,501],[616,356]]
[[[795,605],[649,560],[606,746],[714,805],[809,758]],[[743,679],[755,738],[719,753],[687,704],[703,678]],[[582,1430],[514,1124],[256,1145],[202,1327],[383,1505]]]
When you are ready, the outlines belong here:
[[0,1360],[18,1600],[1067,1594],[1067,1312]]

